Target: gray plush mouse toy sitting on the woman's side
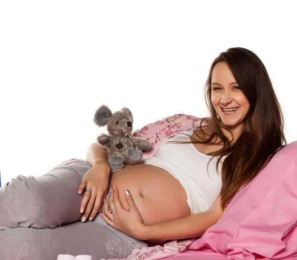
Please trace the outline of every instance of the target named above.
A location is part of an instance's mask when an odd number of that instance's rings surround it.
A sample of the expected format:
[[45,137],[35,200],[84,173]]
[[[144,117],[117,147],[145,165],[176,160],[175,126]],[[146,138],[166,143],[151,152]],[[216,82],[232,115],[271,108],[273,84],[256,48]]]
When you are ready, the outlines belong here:
[[124,107],[120,111],[111,110],[101,105],[95,112],[94,122],[99,127],[107,126],[109,134],[102,133],[97,141],[105,147],[111,172],[114,173],[125,164],[133,165],[142,161],[142,150],[150,150],[152,145],[140,137],[132,137],[133,116]]

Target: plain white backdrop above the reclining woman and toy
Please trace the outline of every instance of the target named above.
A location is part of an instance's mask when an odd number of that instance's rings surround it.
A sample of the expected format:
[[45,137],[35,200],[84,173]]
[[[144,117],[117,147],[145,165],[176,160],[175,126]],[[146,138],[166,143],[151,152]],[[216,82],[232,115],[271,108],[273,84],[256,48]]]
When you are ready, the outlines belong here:
[[126,106],[134,130],[176,113],[206,116],[212,60],[245,47],[266,66],[297,140],[294,1],[1,1],[2,185],[85,159],[95,110]]

